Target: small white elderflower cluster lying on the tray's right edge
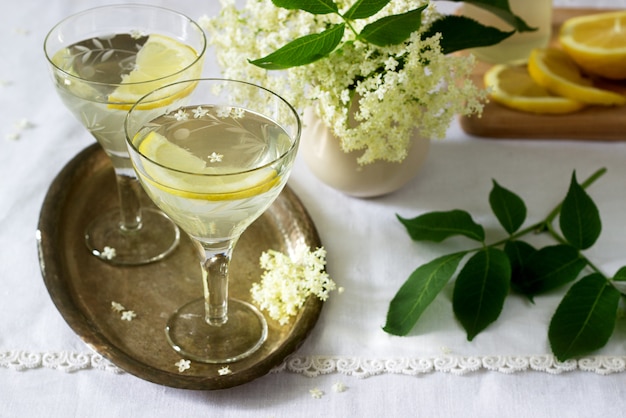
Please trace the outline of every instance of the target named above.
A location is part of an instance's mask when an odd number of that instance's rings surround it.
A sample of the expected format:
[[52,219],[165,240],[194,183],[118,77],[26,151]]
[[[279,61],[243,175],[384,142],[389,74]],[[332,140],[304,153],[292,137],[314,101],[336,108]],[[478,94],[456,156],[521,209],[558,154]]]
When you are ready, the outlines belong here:
[[281,325],[296,315],[309,295],[328,299],[335,282],[324,271],[326,250],[302,248],[293,258],[274,250],[261,254],[265,270],[260,283],[252,285],[254,302]]

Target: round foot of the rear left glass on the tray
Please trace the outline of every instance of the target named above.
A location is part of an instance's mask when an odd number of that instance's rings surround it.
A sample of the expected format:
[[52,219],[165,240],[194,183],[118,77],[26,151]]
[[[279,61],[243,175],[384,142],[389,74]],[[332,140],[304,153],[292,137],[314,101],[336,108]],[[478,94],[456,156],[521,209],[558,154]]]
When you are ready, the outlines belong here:
[[112,210],[96,218],[85,231],[87,248],[102,261],[116,265],[141,265],[158,261],[178,245],[180,231],[162,212],[144,208],[141,228],[120,228],[120,214]]

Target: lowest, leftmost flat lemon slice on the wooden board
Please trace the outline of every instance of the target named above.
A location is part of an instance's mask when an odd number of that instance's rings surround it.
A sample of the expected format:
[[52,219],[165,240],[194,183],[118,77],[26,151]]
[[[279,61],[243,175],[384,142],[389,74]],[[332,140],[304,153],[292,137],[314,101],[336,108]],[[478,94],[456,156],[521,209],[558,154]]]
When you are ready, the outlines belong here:
[[563,114],[585,107],[576,100],[551,94],[535,83],[525,66],[494,65],[485,73],[484,83],[493,101],[515,110]]

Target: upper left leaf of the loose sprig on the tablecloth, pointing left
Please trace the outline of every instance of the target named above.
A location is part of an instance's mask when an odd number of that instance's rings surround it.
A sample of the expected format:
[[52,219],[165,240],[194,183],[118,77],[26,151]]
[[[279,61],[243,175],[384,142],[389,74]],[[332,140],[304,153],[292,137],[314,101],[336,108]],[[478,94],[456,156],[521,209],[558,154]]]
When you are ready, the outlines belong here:
[[429,212],[406,219],[396,215],[414,241],[441,242],[455,235],[464,235],[475,241],[485,240],[485,230],[463,210]]

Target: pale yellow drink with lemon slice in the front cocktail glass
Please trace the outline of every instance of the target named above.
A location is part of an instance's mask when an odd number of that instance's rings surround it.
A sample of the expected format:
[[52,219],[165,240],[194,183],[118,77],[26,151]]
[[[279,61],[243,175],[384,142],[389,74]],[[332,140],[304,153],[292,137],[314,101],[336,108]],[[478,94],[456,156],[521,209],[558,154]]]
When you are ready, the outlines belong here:
[[[293,140],[245,109],[183,107],[146,123],[131,154],[148,195],[203,243],[239,236],[276,199]],[[292,153],[293,154],[293,153]]]

